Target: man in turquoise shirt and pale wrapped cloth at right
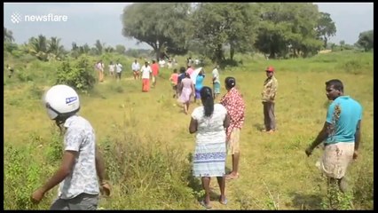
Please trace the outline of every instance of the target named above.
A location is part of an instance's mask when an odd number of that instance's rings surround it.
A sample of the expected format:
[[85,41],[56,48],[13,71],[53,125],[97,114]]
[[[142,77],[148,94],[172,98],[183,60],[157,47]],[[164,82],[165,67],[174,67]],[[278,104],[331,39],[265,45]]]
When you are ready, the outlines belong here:
[[[313,149],[324,142],[324,153],[318,163],[319,169],[327,176],[330,192],[335,193],[337,189],[333,189],[338,185],[340,191],[345,193],[348,190],[345,178],[347,168],[352,159],[358,158],[362,106],[350,96],[344,95],[343,83],[338,79],[326,82],[326,95],[327,99],[333,101],[328,106],[326,122],[305,153],[310,156]],[[337,201],[332,201],[335,202]]]

